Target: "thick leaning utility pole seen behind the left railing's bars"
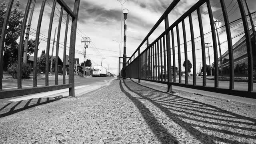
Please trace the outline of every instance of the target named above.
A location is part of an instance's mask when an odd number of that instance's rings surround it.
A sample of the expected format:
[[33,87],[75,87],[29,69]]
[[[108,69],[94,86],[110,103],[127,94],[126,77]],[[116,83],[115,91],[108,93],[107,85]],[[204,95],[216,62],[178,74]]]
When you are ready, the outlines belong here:
[[34,13],[34,9],[35,9],[35,4],[36,4],[36,0],[34,0],[31,12],[30,12],[30,16],[28,19],[28,25],[27,25],[27,31],[26,31],[26,36],[25,36],[25,44],[24,44],[24,50],[23,50],[23,63],[27,63],[27,54],[28,54],[28,39],[29,39],[29,33],[30,33],[30,26],[31,26],[31,21],[32,21],[32,17],[33,17],[33,13]]

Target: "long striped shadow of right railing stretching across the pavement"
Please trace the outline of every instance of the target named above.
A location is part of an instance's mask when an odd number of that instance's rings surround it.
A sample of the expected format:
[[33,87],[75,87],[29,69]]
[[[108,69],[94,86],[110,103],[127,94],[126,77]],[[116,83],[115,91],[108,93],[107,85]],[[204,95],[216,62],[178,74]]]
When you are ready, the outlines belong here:
[[[122,82],[128,90],[124,91]],[[154,90],[130,80],[120,81],[120,88],[134,102],[145,120],[147,116],[151,118],[154,115],[140,102],[140,99],[148,100],[154,104],[170,120],[184,128],[187,132],[190,132],[203,144],[214,143],[214,140],[232,144],[248,144],[246,141],[237,141],[236,137],[244,140],[248,138],[256,139],[254,136],[256,129],[253,128],[256,125],[256,119],[254,118],[242,116],[216,106],[182,98],[174,94]],[[133,97],[128,91],[137,94],[140,98]],[[146,122],[148,123],[147,120]],[[158,127],[161,128],[161,126]],[[250,135],[241,133],[241,130],[249,132]],[[172,136],[172,134],[169,135]]]

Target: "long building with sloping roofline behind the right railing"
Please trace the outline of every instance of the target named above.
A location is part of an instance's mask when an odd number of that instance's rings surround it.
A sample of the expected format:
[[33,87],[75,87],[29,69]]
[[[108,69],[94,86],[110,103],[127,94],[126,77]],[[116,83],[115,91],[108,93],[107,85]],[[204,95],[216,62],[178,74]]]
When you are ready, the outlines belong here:
[[[252,55],[253,55],[253,70],[256,75],[256,42],[250,30],[250,38],[252,43]],[[234,74],[236,78],[248,78],[248,58],[247,58],[247,46],[246,38],[243,36],[238,42],[233,45],[233,57],[234,57]],[[214,66],[214,63],[212,63]],[[224,76],[229,76],[229,56],[228,51],[222,54],[222,67]],[[218,58],[218,68],[220,73],[220,58]],[[213,71],[214,72],[214,71]],[[255,76],[254,76],[255,77]]]

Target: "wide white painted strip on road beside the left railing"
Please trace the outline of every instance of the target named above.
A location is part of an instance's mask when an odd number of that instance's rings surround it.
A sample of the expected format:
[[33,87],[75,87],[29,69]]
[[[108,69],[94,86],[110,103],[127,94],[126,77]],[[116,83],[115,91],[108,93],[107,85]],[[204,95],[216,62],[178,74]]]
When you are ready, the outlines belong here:
[[[76,86],[75,90],[78,89],[78,88],[84,88],[86,86],[89,86],[89,85]],[[18,102],[18,101],[21,101],[21,100],[29,100],[31,98],[42,98],[42,97],[47,97],[47,96],[50,96],[50,95],[53,95],[53,94],[60,94],[60,93],[63,93],[63,92],[68,92],[68,88],[65,88],[65,89],[62,89],[62,90],[54,90],[54,91],[50,91],[50,92],[41,92],[41,93],[38,93],[38,94],[32,94],[30,96],[25,96],[25,97],[22,97],[22,98],[15,98],[15,99],[12,99],[10,101]]]

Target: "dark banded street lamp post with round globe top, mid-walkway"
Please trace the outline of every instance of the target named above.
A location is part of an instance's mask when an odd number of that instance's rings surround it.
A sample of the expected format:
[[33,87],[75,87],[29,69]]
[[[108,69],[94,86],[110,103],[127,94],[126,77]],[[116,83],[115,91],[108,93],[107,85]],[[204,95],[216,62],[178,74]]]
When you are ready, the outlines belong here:
[[123,80],[126,79],[125,77],[125,68],[126,68],[126,23],[127,23],[127,14],[128,14],[129,10],[128,9],[124,9],[123,13],[124,13],[124,54],[123,54]]

